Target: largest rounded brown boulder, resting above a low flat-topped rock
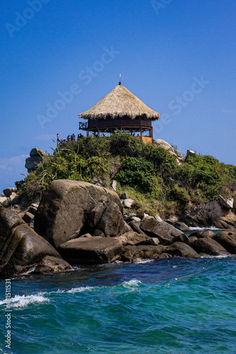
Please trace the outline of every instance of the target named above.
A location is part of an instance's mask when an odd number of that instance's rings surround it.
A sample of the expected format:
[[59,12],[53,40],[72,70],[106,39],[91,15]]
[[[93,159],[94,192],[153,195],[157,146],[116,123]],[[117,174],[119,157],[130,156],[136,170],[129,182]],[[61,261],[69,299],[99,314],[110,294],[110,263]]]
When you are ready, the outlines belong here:
[[[122,213],[120,199],[113,190],[86,182],[57,180],[43,195],[35,214],[35,231],[45,238],[49,235],[50,243],[56,247],[80,234],[91,233],[84,227],[101,229],[106,236],[116,227],[118,234],[122,234],[130,229]],[[116,234],[113,232],[112,236]]]

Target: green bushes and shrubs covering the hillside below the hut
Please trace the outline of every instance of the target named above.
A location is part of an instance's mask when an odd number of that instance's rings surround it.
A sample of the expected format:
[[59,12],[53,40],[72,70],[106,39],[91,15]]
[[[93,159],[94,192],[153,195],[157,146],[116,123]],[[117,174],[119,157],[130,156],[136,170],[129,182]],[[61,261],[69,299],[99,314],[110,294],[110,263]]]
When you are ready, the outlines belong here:
[[16,182],[25,202],[42,195],[55,179],[101,183],[133,198],[137,214],[178,215],[196,205],[227,198],[236,180],[236,166],[219,163],[212,156],[189,156],[178,166],[165,149],[144,144],[127,133],[112,137],[84,137],[47,154],[35,172]]

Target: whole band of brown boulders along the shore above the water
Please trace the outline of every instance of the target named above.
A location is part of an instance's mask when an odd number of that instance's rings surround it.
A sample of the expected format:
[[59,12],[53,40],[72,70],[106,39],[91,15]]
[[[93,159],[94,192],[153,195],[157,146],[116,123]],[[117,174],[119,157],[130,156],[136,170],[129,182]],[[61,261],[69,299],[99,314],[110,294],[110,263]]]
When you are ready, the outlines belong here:
[[17,205],[0,207],[0,278],[72,270],[78,264],[236,254],[235,229],[187,237],[182,222],[124,215],[126,197],[121,201],[115,191],[91,183],[57,180],[39,205],[24,213]]

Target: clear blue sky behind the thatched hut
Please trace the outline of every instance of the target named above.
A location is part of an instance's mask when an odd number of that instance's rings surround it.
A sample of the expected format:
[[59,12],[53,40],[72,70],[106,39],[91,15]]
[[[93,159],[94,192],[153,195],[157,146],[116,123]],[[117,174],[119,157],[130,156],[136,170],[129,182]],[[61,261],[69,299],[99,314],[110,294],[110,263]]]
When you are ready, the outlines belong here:
[[1,8],[0,193],[33,147],[77,135],[122,84],[157,110],[154,138],[236,165],[233,0],[28,0]]

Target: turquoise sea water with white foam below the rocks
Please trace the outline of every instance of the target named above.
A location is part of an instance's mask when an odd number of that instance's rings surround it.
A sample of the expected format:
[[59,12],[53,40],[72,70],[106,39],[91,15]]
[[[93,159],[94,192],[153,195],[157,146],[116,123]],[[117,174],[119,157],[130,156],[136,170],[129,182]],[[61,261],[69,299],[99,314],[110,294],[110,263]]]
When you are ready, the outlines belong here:
[[113,263],[1,282],[0,353],[236,353],[235,256]]

